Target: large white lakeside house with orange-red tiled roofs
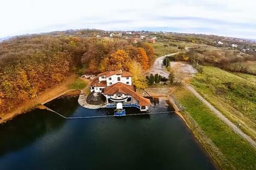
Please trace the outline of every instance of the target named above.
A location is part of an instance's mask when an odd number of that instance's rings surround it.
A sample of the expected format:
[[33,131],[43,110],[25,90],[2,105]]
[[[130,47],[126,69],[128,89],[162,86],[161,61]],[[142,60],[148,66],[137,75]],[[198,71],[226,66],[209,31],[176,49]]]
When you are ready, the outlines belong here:
[[107,99],[108,105],[124,103],[124,105],[134,105],[140,111],[147,111],[151,105],[149,99],[140,96],[134,91],[131,74],[126,71],[107,71],[99,74],[90,84],[90,91],[102,93]]

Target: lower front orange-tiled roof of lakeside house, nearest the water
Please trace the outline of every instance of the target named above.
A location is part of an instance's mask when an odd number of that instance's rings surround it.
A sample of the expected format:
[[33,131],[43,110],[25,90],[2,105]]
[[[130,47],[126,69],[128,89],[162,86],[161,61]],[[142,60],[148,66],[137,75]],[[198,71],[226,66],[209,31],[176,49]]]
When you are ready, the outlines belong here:
[[151,105],[150,100],[137,94],[134,91],[133,86],[131,86],[131,85],[125,85],[122,82],[118,82],[118,83],[110,85],[104,89],[104,94],[116,94],[116,93],[131,95],[133,98],[135,98],[139,101],[139,105],[141,105],[141,106],[150,106]]

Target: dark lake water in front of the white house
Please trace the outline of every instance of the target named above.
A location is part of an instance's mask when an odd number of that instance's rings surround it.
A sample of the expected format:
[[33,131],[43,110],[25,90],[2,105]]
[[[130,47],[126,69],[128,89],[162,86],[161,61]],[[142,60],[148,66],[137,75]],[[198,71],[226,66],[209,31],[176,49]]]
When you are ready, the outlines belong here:
[[[47,106],[68,117],[113,114],[88,110],[77,97]],[[148,112],[173,111],[160,100]],[[126,113],[139,113],[127,108]],[[0,125],[0,170],[215,170],[208,154],[175,113],[63,119],[34,110]]]

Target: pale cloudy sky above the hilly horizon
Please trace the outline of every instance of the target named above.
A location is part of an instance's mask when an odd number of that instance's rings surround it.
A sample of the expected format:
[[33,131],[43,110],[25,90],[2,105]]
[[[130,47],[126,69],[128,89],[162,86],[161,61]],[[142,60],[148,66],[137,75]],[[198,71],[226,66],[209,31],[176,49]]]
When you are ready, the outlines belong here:
[[256,1],[0,0],[0,38],[80,28],[256,39]]

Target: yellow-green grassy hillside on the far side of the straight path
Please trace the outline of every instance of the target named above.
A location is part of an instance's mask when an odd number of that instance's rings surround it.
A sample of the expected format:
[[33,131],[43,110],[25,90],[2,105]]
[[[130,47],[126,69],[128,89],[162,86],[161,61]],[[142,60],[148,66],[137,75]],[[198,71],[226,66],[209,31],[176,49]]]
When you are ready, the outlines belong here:
[[207,101],[256,140],[256,78],[204,66],[192,85]]

